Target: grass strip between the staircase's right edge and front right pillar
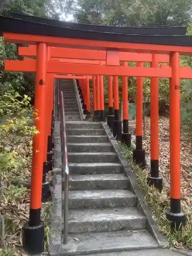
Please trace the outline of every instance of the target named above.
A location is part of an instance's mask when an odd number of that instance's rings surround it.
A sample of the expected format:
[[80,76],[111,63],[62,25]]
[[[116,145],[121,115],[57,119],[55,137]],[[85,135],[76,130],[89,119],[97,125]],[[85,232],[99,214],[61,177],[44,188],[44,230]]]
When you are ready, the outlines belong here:
[[142,170],[135,166],[132,161],[132,148],[119,144],[122,152],[130,163],[139,183],[141,193],[144,195],[144,202],[150,208],[153,219],[156,221],[158,230],[164,234],[168,240],[169,247],[179,249],[192,249],[192,216],[187,212],[187,224],[179,231],[170,230],[169,221],[166,219],[166,211],[170,208],[169,189],[164,187],[161,193],[156,188],[147,183],[147,170]]

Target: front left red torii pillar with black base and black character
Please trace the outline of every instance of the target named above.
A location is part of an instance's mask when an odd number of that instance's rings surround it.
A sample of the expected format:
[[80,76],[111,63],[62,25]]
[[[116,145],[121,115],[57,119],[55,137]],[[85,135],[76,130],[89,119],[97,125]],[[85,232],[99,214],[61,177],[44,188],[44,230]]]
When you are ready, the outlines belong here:
[[[37,43],[36,56],[36,86],[35,86],[35,109],[36,117],[34,124],[38,134],[33,136],[33,162],[31,172],[31,200],[29,210],[29,222],[23,227],[23,244],[27,252],[43,251],[45,225],[41,221],[41,195],[42,176],[45,146],[45,103],[46,103],[46,66],[47,66],[47,45]],[[45,82],[44,82],[45,81]],[[36,239],[38,237],[38,239]],[[31,239],[36,241],[36,250]]]

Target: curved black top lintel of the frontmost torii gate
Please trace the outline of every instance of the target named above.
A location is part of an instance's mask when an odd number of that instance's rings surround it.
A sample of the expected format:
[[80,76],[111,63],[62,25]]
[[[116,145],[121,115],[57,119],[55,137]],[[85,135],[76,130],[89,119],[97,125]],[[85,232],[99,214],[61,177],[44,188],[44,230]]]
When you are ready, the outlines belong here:
[[3,35],[3,32],[137,44],[192,46],[192,36],[159,36],[98,32],[0,16],[0,34]]

